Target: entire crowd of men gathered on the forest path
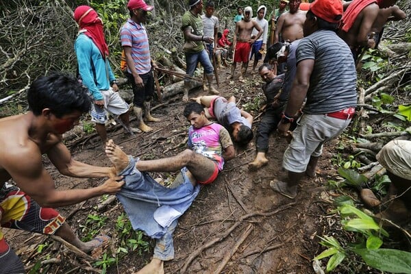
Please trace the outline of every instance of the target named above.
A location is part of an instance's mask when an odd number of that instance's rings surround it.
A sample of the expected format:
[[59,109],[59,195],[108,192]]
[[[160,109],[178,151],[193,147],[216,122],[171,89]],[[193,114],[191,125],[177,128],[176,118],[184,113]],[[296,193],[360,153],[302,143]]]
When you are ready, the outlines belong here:
[[[328,140],[339,136],[349,125],[357,105],[356,60],[360,52],[376,47],[387,20],[401,20],[405,13],[393,0],[315,0],[300,8],[301,0],[282,0],[271,11],[270,25],[265,5],[253,18],[250,6],[238,8],[233,40],[229,29],[219,36],[219,19],[214,3],[189,0],[182,16],[186,74],[192,76],[200,63],[204,87],[209,95],[192,98],[184,108],[190,123],[188,149],[171,158],[140,160],[127,155],[108,140],[105,123],[108,113],[119,116],[125,134],[149,132],[146,123],[160,119],[151,115],[153,70],[149,39],[144,23],[153,6],[143,0],[129,0],[129,18],[121,28],[125,70],[134,93],[133,111],[137,127],[129,122],[129,105],[119,96],[116,77],[110,67],[110,51],[97,12],[87,5],[74,11],[79,25],[75,53],[77,77],[55,73],[36,79],[27,92],[29,112],[0,119],[0,223],[2,227],[26,229],[62,237],[82,251],[101,245],[103,236],[89,242],[77,238],[64,216],[53,208],[70,206],[92,197],[116,194],[134,229],[156,239],[153,259],[138,273],[164,273],[164,261],[174,258],[173,232],[179,216],[190,207],[200,184],[211,184],[234,158],[234,145],[247,146],[253,139],[253,116],[236,106],[234,97],[219,96],[213,84],[220,51],[225,58],[232,49],[230,80],[241,62],[239,82],[245,82],[249,60],[253,70],[264,57],[258,73],[264,81],[264,115],[256,134],[256,158],[249,163],[257,171],[269,163],[266,153],[269,136],[277,129],[287,138],[282,166],[285,178],[273,178],[271,188],[290,199],[298,195],[304,176],[316,176],[316,164]],[[286,5],[289,10],[286,11]],[[348,7],[348,8],[347,8]],[[345,10],[346,8],[346,10]],[[345,11],[344,11],[345,10]],[[275,26],[273,45],[269,28]],[[221,56],[221,55],[220,55]],[[183,101],[189,101],[190,77],[184,79]],[[113,167],[93,166],[71,158],[62,134],[89,112]],[[390,142],[377,156],[393,179],[392,194],[408,197],[411,186],[411,141]],[[94,188],[59,190],[42,163],[46,154],[63,175],[108,177]],[[156,182],[148,172],[179,171],[171,186]],[[15,184],[9,184],[13,179]],[[404,192],[406,193],[404,195]],[[401,198],[380,217],[410,217],[410,200]],[[24,273],[18,256],[0,231],[0,273]]]

